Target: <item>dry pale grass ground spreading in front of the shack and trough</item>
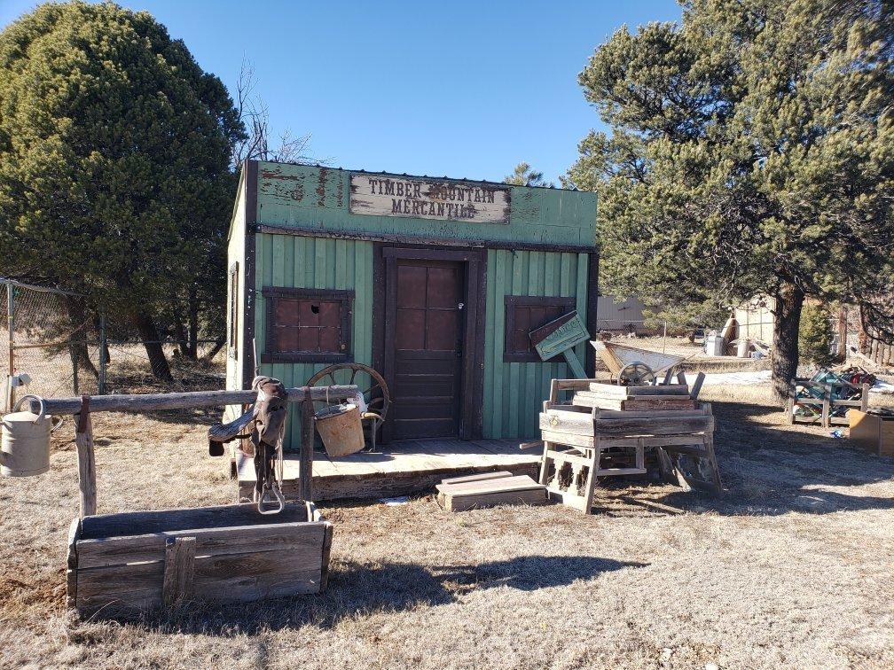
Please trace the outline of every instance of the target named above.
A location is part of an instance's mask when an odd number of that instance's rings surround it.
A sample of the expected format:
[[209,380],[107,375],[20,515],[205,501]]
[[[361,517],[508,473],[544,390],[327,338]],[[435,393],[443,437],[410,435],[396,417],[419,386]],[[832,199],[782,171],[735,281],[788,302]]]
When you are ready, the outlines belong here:
[[[64,608],[69,421],[50,473],[0,481],[0,666],[894,667],[894,461],[781,425],[763,391],[703,396],[722,498],[621,481],[592,516],[324,505],[324,595],[128,624]],[[100,512],[231,502],[207,420],[97,416]]]

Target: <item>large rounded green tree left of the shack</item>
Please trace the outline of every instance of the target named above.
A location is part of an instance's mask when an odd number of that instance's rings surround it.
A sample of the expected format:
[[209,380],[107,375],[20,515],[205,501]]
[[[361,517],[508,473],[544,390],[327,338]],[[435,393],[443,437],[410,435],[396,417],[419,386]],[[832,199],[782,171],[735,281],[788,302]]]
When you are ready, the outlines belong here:
[[225,285],[243,137],[223,83],[150,14],[38,6],[0,33],[0,272],[86,292],[159,339],[173,302]]

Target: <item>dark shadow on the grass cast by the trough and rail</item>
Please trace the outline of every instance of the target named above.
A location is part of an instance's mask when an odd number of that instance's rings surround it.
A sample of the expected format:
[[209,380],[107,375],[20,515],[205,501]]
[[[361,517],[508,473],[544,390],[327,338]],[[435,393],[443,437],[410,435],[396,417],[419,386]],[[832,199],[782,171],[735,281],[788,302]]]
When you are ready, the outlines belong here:
[[312,624],[330,628],[345,617],[448,605],[475,590],[507,587],[533,591],[591,580],[643,563],[600,557],[525,556],[481,565],[423,566],[409,563],[333,565],[320,595],[244,605],[188,603],[144,619],[161,632],[232,636]]

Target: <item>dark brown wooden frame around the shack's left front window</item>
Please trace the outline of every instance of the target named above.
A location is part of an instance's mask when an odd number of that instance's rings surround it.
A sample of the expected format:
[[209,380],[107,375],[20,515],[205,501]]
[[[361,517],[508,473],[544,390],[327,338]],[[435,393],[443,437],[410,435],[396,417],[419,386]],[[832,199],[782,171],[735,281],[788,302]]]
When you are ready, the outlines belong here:
[[[261,354],[261,363],[351,363],[354,360],[351,351],[351,326],[353,322],[354,291],[348,289],[298,289],[284,286],[266,286],[261,289],[265,300],[266,337],[265,350]],[[341,352],[318,351],[280,351],[276,348],[275,315],[276,301],[291,300],[325,300],[341,303],[339,310]]]

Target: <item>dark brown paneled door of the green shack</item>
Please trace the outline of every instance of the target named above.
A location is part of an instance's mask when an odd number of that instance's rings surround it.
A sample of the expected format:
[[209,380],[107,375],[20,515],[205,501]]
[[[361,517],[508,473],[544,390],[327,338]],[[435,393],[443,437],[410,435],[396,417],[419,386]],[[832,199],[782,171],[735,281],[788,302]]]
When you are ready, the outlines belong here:
[[398,259],[391,283],[393,318],[390,436],[460,435],[465,264]]

